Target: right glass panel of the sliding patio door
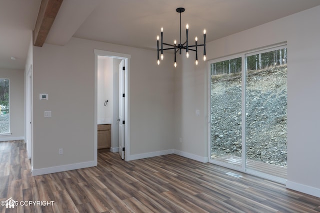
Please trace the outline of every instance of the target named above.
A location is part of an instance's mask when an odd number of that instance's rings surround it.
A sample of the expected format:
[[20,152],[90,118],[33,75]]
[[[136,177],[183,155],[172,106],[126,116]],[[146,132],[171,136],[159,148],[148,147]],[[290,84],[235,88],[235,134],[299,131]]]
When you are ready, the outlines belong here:
[[245,60],[246,168],[286,178],[286,48]]

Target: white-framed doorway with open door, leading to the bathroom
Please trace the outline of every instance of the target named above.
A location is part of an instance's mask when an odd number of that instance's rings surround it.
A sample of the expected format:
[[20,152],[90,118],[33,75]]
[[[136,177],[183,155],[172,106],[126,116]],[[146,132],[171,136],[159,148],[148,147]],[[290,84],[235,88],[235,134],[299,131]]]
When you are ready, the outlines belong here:
[[[119,152],[120,157],[125,160],[129,155],[128,75],[130,55],[95,49],[94,58],[94,160],[97,162],[97,124],[101,121],[111,124],[110,151]],[[101,60],[107,62],[101,62]],[[101,82],[99,64],[101,63],[111,64],[110,67],[112,67],[112,71],[103,77],[103,79],[106,79],[106,76],[109,78],[109,80],[106,80],[108,83],[104,83],[108,87],[106,93],[109,97],[104,98],[105,100],[101,98],[101,92],[98,92],[101,90],[101,84],[99,83]]]

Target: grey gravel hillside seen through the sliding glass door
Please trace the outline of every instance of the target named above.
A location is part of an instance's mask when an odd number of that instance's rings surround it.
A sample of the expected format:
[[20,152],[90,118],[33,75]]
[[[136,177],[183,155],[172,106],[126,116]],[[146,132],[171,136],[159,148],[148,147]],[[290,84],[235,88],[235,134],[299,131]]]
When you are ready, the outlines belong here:
[[[286,167],[286,65],[250,71],[246,81],[246,155]],[[220,76],[211,87],[211,153],[241,156],[241,77]]]

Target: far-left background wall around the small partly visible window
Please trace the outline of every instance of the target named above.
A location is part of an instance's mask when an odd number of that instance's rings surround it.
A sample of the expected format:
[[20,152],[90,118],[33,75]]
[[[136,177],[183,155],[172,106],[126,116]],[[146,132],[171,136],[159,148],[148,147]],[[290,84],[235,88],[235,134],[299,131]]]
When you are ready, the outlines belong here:
[[11,135],[0,141],[24,139],[24,73],[22,69],[0,68],[0,78],[9,79],[9,107]]

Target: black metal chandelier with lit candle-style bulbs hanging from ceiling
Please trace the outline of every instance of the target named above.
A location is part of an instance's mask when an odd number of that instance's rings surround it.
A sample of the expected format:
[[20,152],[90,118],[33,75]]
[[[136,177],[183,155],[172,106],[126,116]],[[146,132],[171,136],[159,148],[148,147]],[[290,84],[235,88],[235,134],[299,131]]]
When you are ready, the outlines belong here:
[[[159,35],[156,37],[157,41],[156,41],[156,45],[157,45],[157,64],[160,64],[160,60],[159,60],[159,52],[161,54],[161,60],[163,60],[163,50],[169,50],[169,49],[173,49],[174,50],[174,67],[176,67],[176,53],[179,51],[179,54],[181,55],[181,50],[185,49],[186,52],[186,57],[189,57],[189,50],[195,51],[195,64],[198,65],[198,50],[197,47],[198,46],[203,46],[203,60],[205,61],[205,29],[203,30],[203,44],[198,44],[197,42],[197,37],[195,37],[195,45],[189,45],[188,43],[188,31],[189,31],[189,25],[186,24],[185,28],[186,28],[186,41],[184,43],[181,43],[181,12],[184,12],[184,8],[179,7],[176,8],[177,12],[180,13],[180,41],[177,44],[176,40],[174,40],[174,44],[168,44],[168,43],[164,43],[163,42],[163,27],[161,27],[161,48],[159,49]],[[170,46],[168,48],[163,48],[163,45],[167,45]],[[195,47],[195,49],[194,49]]]

